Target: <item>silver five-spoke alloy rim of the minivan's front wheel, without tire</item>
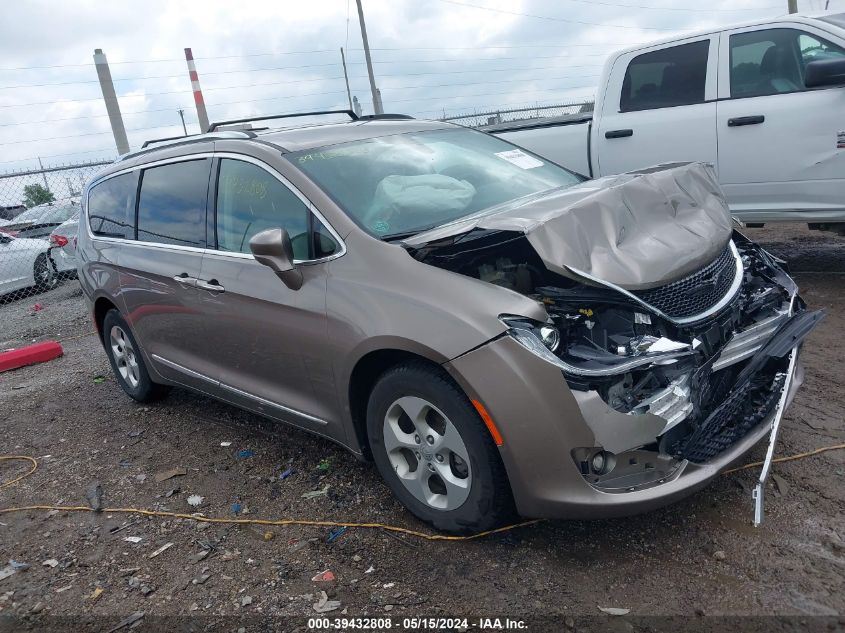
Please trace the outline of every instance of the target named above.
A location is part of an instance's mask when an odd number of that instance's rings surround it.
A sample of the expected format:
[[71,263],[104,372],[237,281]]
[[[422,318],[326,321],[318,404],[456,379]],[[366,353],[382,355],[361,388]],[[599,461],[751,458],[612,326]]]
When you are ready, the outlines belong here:
[[393,402],[384,417],[384,447],[399,481],[418,500],[444,511],[466,501],[472,487],[466,445],[430,402],[416,396]]

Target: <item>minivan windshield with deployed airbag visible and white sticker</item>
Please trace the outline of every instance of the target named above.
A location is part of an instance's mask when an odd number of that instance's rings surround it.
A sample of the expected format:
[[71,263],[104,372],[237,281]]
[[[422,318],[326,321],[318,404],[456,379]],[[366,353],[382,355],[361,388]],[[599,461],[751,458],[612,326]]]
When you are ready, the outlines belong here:
[[287,156],[370,234],[412,235],[583,179],[493,136],[429,130]]

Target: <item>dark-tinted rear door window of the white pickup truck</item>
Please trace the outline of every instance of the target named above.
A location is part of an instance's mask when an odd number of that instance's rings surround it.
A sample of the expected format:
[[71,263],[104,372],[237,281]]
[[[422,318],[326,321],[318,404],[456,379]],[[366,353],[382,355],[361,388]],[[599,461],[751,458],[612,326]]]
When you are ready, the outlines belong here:
[[638,55],[622,82],[622,112],[704,102],[710,40]]

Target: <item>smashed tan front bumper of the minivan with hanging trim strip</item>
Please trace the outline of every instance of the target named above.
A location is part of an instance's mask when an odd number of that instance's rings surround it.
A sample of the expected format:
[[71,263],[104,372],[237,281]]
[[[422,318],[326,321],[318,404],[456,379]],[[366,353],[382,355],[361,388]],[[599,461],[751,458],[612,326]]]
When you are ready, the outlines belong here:
[[[742,245],[744,253],[749,244]],[[738,275],[743,272],[748,271],[740,267]],[[767,291],[757,287],[743,294],[732,288],[735,296],[704,325],[677,330],[697,333],[686,348],[663,338],[648,340],[651,365],[632,370],[638,357],[630,349],[628,356],[613,358],[600,349],[573,356],[570,348],[552,363],[507,335],[447,364],[466,391],[485,403],[505,438],[502,458],[520,512],[598,518],[647,511],[705,486],[768,435],[754,492],[759,525],[780,421],[803,380],[800,346],[823,317],[804,309],[783,270],[770,273],[772,287],[787,297],[782,303],[769,297],[753,318],[737,316],[759,305],[755,302]],[[598,323],[600,317],[589,318]],[[660,352],[652,354],[658,347],[663,359]],[[568,364],[573,358],[580,363],[576,373]],[[614,363],[623,367],[620,375],[634,375],[626,387],[642,380],[637,372],[642,376],[650,369],[664,372],[663,382],[626,404],[617,386],[593,387],[602,384],[596,376],[616,379],[605,371]],[[491,367],[497,368],[495,376]]]

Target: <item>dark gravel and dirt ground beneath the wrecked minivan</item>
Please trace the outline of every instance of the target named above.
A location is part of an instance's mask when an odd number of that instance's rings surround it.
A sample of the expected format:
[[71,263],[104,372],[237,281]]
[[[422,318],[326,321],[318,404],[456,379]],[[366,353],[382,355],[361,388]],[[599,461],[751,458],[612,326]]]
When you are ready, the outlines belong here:
[[[844,442],[845,238],[789,225],[747,233],[789,260],[807,303],[828,311],[805,345],[805,384],[784,418],[778,454]],[[38,312],[36,300],[44,306]],[[131,401],[86,336],[93,326],[75,281],[0,305],[0,328],[0,349],[48,336],[65,346],[58,360],[0,374],[0,452],[39,461],[32,476],[0,490],[0,507],[87,505],[86,491],[99,483],[110,508],[235,517],[239,504],[241,518],[426,530],[371,465],[326,440],[186,391],[150,406]],[[747,461],[762,459],[764,448]],[[254,454],[240,457],[244,450]],[[173,468],[185,474],[157,481]],[[25,469],[0,462],[0,481]],[[141,624],[155,615],[205,615],[203,626],[223,622],[234,631],[224,616],[316,615],[325,591],[340,602],[330,616],[512,615],[550,618],[555,630],[640,630],[638,616],[683,616],[689,625],[708,622],[705,615],[791,615],[841,630],[845,451],[776,465],[759,529],[750,526],[755,472],[720,477],[643,516],[543,522],[461,542],[376,529],[349,529],[329,542],[323,527],[5,514],[0,570],[8,559],[30,567],[0,580],[0,616],[16,615],[17,626],[35,630],[59,615],[112,624],[135,612],[146,614]],[[325,494],[303,498],[312,491]],[[198,507],[188,504],[191,495],[203,498]],[[334,580],[312,580],[327,569]],[[608,619],[599,607],[630,615]],[[752,620],[743,622],[751,628]],[[538,627],[531,630],[551,630]]]

